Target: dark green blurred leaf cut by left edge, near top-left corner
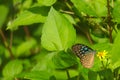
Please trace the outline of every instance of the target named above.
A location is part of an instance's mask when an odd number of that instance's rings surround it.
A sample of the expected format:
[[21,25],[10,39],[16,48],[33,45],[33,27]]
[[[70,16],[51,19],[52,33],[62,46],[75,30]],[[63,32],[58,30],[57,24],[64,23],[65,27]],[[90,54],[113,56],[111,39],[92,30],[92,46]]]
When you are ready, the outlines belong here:
[[2,27],[4,21],[6,20],[8,14],[8,8],[4,5],[0,5],[0,28]]

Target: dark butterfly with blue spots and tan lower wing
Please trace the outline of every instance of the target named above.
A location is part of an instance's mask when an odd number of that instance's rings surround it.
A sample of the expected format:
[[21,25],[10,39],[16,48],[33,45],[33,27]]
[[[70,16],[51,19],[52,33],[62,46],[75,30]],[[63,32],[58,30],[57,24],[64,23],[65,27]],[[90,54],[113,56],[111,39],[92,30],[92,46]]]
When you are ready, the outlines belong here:
[[84,44],[75,44],[72,46],[72,51],[80,58],[80,62],[85,68],[93,66],[95,50]]

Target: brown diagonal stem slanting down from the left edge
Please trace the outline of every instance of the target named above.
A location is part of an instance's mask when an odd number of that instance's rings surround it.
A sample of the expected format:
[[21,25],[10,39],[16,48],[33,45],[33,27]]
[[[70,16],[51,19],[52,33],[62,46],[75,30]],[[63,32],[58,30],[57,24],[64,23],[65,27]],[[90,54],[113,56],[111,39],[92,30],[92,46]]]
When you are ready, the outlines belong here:
[[10,53],[10,58],[13,59],[14,55],[13,55],[12,50],[11,50],[10,46],[8,45],[6,37],[5,37],[5,35],[4,35],[4,33],[3,33],[3,31],[1,29],[0,29],[0,35],[1,35],[2,39],[3,39],[3,43],[4,43],[5,47],[7,48],[7,50]]

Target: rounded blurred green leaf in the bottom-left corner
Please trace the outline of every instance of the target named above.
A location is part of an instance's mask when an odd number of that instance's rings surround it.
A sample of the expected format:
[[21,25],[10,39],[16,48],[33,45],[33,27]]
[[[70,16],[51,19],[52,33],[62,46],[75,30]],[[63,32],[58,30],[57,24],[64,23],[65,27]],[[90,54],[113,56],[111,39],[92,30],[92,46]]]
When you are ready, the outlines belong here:
[[3,69],[4,77],[15,77],[23,70],[22,62],[20,60],[12,60],[8,62]]

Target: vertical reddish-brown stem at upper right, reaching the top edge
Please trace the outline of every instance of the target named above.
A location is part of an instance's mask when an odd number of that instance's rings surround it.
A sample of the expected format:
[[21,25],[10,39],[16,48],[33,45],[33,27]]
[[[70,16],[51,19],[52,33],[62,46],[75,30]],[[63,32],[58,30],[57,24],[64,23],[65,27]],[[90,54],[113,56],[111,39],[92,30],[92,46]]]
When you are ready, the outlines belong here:
[[107,27],[108,27],[108,31],[109,31],[109,37],[110,37],[110,43],[113,43],[112,40],[112,26],[111,26],[111,14],[110,14],[110,0],[107,0]]

